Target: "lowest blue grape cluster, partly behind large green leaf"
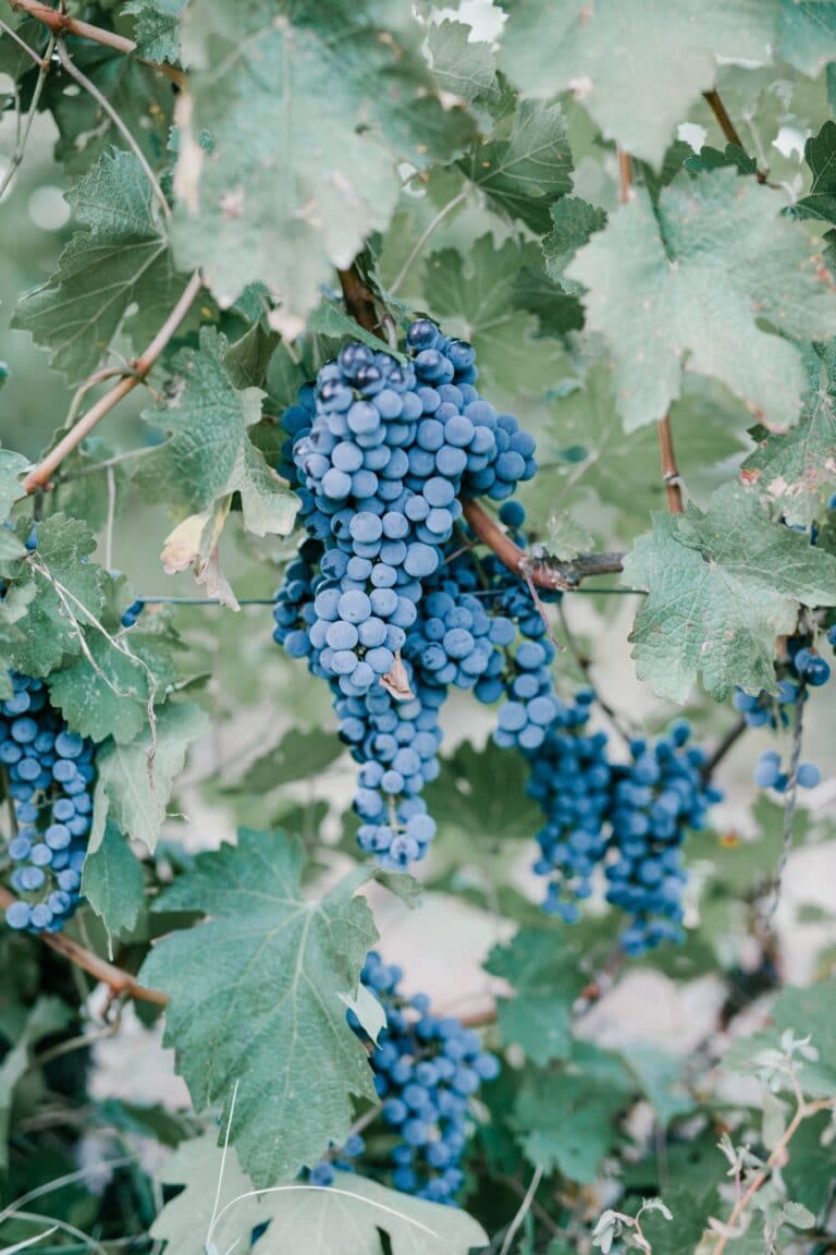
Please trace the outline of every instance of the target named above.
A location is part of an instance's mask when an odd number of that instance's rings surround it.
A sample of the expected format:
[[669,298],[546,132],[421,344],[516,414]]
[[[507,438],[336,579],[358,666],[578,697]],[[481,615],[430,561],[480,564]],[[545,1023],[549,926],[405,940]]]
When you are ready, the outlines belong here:
[[[464,1183],[461,1157],[470,1131],[470,1101],[483,1081],[499,1073],[499,1060],[481,1048],[479,1034],[454,1017],[436,1017],[425,994],[406,998],[402,971],[372,950],[361,980],[382,1004],[386,1028],[371,1053],[382,1121],[394,1135],[380,1156],[367,1155],[363,1171],[382,1176],[396,1190],[430,1202],[454,1204]],[[367,1042],[352,1013],[355,1032]],[[352,1167],[366,1152],[358,1136],[348,1138],[336,1158],[311,1172],[315,1185],[330,1185],[335,1170]]]

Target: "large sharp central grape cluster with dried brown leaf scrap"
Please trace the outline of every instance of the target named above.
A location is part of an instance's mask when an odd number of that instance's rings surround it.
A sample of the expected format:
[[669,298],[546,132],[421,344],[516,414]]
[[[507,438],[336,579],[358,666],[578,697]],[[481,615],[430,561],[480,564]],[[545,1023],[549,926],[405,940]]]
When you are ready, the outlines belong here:
[[435,823],[420,794],[439,772],[439,709],[451,684],[496,674],[510,626],[445,569],[461,497],[503,501],[535,472],[534,441],[475,379],[473,348],[420,319],[404,363],[347,344],[283,418],[280,469],[308,537],[273,635],[332,689],[360,763],[360,845],[386,866],[426,853]]

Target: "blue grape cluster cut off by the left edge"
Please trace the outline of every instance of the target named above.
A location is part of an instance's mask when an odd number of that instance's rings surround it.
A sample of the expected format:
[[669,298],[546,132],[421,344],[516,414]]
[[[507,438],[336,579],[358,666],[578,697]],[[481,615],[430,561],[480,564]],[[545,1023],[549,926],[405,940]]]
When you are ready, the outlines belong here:
[[0,704],[0,764],[15,817],[6,853],[18,894],[6,924],[56,932],[80,900],[94,750],[69,732],[40,680],[13,674],[11,681],[14,693]]

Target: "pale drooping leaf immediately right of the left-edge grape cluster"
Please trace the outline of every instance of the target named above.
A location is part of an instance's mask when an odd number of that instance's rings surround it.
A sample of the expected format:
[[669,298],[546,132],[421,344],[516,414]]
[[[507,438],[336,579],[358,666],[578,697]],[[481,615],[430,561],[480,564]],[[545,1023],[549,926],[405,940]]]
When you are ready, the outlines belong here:
[[172,786],[185,763],[189,745],[208,729],[208,719],[192,702],[167,704],[157,713],[153,761],[145,728],[130,744],[109,740],[97,754],[99,778],[93,807],[90,850],[99,848],[109,813],[122,831],[153,852],[165,820]]

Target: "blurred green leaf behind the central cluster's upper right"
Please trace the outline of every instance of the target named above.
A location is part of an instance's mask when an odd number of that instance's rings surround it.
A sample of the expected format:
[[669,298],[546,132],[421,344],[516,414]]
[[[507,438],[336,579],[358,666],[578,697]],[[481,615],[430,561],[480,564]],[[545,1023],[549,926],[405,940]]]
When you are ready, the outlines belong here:
[[470,340],[480,371],[510,395],[541,395],[562,374],[560,346],[535,339],[534,320],[514,305],[520,269],[539,261],[534,243],[506,240],[496,248],[490,236],[481,236],[466,261],[442,248],[425,265],[427,306]]

